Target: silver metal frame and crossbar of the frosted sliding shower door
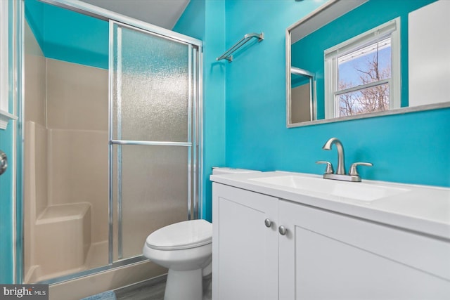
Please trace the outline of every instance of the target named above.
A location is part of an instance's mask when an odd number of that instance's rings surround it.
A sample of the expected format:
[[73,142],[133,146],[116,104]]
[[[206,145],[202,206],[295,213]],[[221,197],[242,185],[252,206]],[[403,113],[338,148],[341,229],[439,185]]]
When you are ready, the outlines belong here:
[[[115,20],[110,20],[110,50],[109,50],[109,220],[110,220],[110,230],[109,230],[109,247],[110,249],[114,249],[114,214],[113,207],[115,204],[114,201],[114,181],[117,180],[117,259],[122,260],[123,257],[123,232],[122,232],[122,155],[121,155],[121,145],[154,145],[154,146],[181,146],[188,148],[188,211],[187,218],[188,219],[198,219],[199,211],[198,211],[198,190],[200,188],[198,185],[200,184],[200,178],[195,176],[195,174],[200,174],[199,170],[199,161],[200,157],[198,141],[199,141],[199,133],[200,126],[197,126],[198,119],[200,117],[198,107],[198,95],[200,93],[195,92],[195,88],[199,88],[200,84],[195,85],[198,81],[198,75],[196,74],[199,70],[198,67],[198,48],[195,49],[194,46],[186,41],[179,41],[179,39],[174,39],[173,37],[167,37],[162,34],[158,34],[155,32],[151,32],[149,30],[145,30],[139,27],[135,27],[132,25],[124,24],[123,22],[117,22]],[[184,44],[188,46],[188,110],[187,110],[187,141],[186,142],[174,142],[174,141],[130,141],[124,140],[121,136],[121,124],[122,117],[120,115],[121,106],[122,106],[122,93],[119,88],[117,88],[117,112],[114,110],[115,105],[115,81],[121,82],[121,79],[115,79],[115,77],[120,78],[122,73],[122,65],[117,63],[117,70],[115,70],[115,26],[117,26],[117,44],[122,43],[121,30],[122,28],[126,28],[128,30],[134,30],[136,32],[141,32],[143,34],[148,34],[153,37],[157,37],[160,39],[167,39],[169,41],[174,41],[179,44]],[[122,57],[121,47],[117,46],[117,56]],[[117,59],[120,61],[120,59]],[[117,73],[117,74],[116,74]],[[117,139],[114,138],[114,119],[117,118]],[[194,125],[194,126],[192,126]],[[118,145],[117,148],[117,178],[113,175],[113,159],[114,159],[114,150],[113,146]],[[113,251],[110,250],[108,256],[109,263],[114,262]]]

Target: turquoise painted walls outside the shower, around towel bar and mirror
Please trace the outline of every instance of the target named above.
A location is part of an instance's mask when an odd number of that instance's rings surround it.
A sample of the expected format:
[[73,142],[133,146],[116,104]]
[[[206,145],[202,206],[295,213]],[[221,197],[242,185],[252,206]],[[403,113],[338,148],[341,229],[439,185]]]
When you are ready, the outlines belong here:
[[[285,30],[323,2],[196,0],[174,27],[204,44],[203,219],[212,220],[212,167],[322,174],[323,166],[315,162],[334,161],[335,153],[321,150],[333,136],[346,146],[347,162],[373,163],[361,168],[364,179],[450,186],[449,108],[286,128]],[[232,63],[216,60],[248,32],[264,32],[264,41],[238,53]],[[5,152],[16,147],[12,127],[0,131]],[[20,193],[13,188],[14,176],[0,177],[6,208],[0,212],[1,236],[7,241],[1,244],[0,282],[14,282],[20,251],[13,247],[18,230],[14,197]]]

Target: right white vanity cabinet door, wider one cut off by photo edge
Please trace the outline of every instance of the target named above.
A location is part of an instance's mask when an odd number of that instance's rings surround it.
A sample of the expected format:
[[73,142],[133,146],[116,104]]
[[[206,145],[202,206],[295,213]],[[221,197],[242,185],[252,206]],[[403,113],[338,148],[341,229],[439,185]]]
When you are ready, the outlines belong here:
[[449,299],[450,244],[280,201],[280,299]]

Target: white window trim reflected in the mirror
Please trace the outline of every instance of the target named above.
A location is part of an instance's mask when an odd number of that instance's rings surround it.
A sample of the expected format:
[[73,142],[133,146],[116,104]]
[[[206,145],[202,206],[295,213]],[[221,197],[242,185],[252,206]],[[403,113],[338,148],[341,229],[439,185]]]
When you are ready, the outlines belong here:
[[401,104],[401,71],[400,71],[400,18],[368,30],[362,34],[348,39],[336,46],[324,51],[325,62],[325,118],[336,116],[336,103],[334,93],[338,89],[338,56],[352,52],[356,46],[375,42],[378,37],[390,34],[391,37],[391,79],[390,86],[390,110],[399,108]]

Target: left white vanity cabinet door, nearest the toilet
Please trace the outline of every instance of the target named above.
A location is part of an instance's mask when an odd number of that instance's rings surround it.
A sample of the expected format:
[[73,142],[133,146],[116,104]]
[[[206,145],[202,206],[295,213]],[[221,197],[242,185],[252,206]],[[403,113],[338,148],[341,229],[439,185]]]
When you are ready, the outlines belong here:
[[278,299],[277,207],[274,197],[213,183],[212,299]]

